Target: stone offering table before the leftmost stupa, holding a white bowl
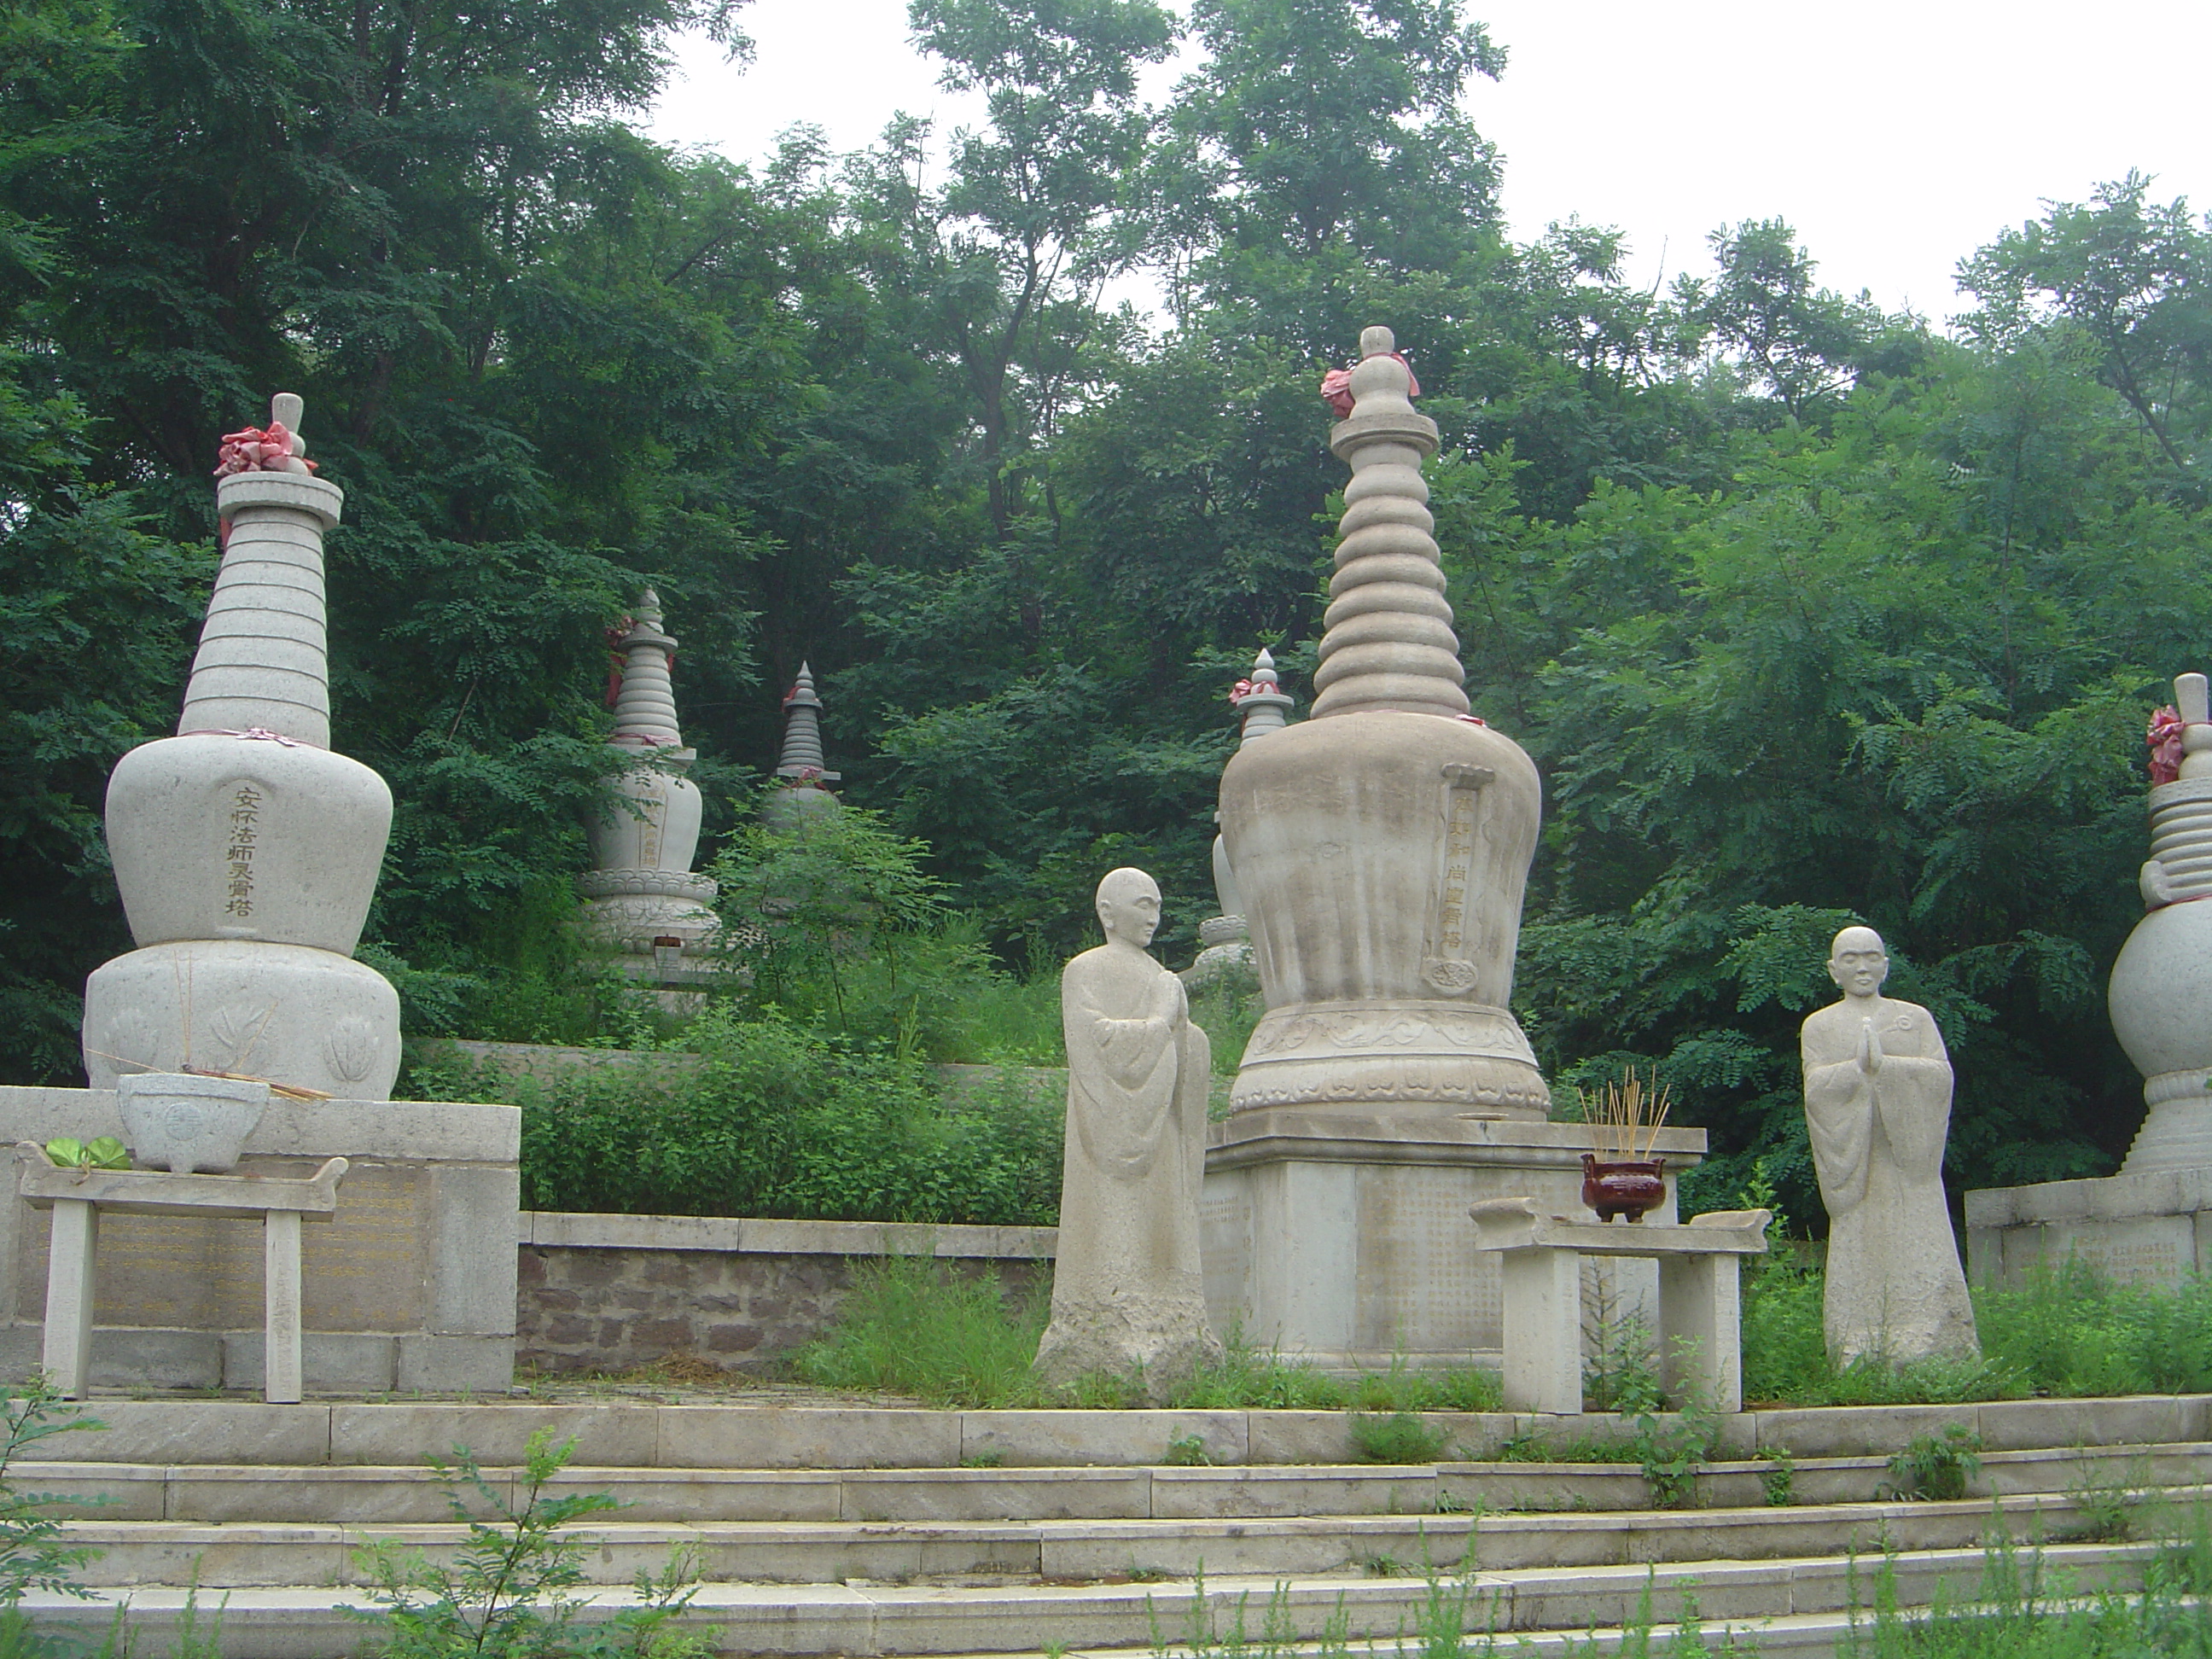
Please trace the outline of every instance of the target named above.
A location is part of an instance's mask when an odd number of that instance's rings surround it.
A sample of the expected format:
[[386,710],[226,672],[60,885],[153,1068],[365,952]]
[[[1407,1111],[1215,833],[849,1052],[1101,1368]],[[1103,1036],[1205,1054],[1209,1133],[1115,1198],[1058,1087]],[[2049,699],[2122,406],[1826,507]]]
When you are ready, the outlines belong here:
[[330,1221],[338,1210],[345,1159],[334,1157],[305,1181],[254,1175],[164,1175],[157,1170],[58,1168],[38,1141],[15,1148],[20,1190],[35,1210],[53,1210],[46,1252],[44,1369],[71,1400],[91,1380],[93,1296],[97,1287],[100,1212],[261,1217],[263,1398],[299,1405],[299,1223]]

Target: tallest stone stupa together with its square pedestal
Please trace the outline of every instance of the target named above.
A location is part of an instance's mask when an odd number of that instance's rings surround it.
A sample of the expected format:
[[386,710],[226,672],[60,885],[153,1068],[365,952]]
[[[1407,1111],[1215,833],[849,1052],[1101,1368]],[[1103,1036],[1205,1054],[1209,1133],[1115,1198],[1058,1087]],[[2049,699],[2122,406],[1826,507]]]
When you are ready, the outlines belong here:
[[[1217,1327],[1321,1365],[1495,1365],[1500,1270],[1469,1206],[1573,1212],[1588,1148],[1582,1124],[1546,1121],[1509,1006],[1542,790],[1467,703],[1416,392],[1387,327],[1323,383],[1352,482],[1314,714],[1221,774],[1267,1011],[1208,1137],[1208,1303]],[[1670,1168],[1701,1148],[1703,1130],[1657,1146]],[[1617,1283],[1630,1303],[1652,1294],[1637,1272]]]

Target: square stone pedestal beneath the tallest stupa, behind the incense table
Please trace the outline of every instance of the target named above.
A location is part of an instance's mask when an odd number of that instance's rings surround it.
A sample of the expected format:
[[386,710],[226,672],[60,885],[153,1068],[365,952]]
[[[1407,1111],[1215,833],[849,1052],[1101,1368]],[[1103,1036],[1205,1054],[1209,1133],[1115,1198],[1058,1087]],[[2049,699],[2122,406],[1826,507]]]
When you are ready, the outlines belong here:
[[[1214,1329],[1241,1329],[1325,1369],[1484,1365],[1504,1358],[1500,1259],[1475,1252],[1467,1212],[1535,1197],[1582,1214],[1582,1124],[1358,1108],[1261,1108],[1214,1124],[1201,1230]],[[1659,1130],[1674,1175],[1703,1159],[1705,1130]],[[1617,1223],[1626,1225],[1626,1223]],[[1657,1321],[1650,1263],[1595,1267],[1588,1305]]]

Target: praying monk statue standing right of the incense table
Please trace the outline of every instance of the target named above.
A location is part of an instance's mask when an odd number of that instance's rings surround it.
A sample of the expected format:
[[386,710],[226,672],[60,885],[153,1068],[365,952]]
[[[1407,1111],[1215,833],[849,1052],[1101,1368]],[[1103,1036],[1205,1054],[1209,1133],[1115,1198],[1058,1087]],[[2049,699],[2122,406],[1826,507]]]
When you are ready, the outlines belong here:
[[1942,1033],[1918,1002],[1882,995],[1889,953],[1871,927],[1836,933],[1827,973],[1843,1002],[1801,1033],[1805,1128],[1829,1219],[1827,1354],[1836,1365],[1980,1354],[1942,1192]]

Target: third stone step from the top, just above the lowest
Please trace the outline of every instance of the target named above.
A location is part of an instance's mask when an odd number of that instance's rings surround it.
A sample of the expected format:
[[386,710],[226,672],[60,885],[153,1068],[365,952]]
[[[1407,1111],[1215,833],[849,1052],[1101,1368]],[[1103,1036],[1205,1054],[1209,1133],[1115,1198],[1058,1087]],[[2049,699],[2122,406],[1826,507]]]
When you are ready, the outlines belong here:
[[[2205,1489],[2168,1493],[2197,1502]],[[1194,1573],[1323,1575],[1455,1568],[1475,1540],[1484,1568],[1624,1566],[1770,1557],[1880,1555],[1885,1548],[1969,1548],[1993,1524],[2015,1537],[2079,1533],[2079,1500],[2022,1493],[1964,1502],[1803,1504],[1517,1515],[1292,1515],[1228,1520],[1031,1522],[586,1522],[582,1568],[593,1584],[628,1584],[688,1551],[708,1579],[838,1584],[849,1579],[1148,1579]],[[100,1551],[86,1584],[206,1588],[358,1584],[356,1548],[372,1540],[449,1557],[458,1524],[279,1524],[188,1520],[64,1522],[69,1544]]]

